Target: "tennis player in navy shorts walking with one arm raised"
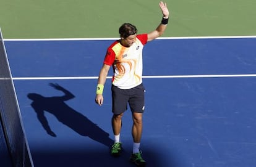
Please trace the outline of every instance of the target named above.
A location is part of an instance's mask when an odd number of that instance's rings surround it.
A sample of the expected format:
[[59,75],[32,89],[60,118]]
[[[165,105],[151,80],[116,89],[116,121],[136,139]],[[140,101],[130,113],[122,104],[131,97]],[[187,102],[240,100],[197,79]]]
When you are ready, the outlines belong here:
[[122,116],[127,110],[129,104],[132,112],[133,126],[132,137],[134,145],[130,161],[137,166],[145,166],[140,151],[140,140],[142,137],[142,114],[144,112],[144,92],[142,84],[142,49],[147,42],[163,35],[166,30],[169,18],[169,10],[166,3],[159,4],[163,14],[160,25],[150,33],[137,34],[137,28],[130,24],[124,23],[119,28],[120,38],[111,44],[105,55],[103,67],[98,77],[96,86],[95,102],[103,105],[103,89],[106,82],[106,76],[111,67],[114,69],[112,79],[112,128],[114,133],[114,144],[111,147],[111,154],[119,156],[122,150],[120,132],[122,126]]

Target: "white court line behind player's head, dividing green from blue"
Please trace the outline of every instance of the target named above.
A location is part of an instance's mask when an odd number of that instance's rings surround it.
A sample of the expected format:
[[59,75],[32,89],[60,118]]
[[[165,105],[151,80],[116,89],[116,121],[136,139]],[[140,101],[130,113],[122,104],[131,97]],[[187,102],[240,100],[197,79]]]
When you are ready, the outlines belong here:
[[[159,37],[156,39],[224,39],[224,38],[256,38],[256,36],[184,36],[184,37]],[[119,38],[38,38],[38,39],[3,39],[4,41],[92,41],[116,40]]]

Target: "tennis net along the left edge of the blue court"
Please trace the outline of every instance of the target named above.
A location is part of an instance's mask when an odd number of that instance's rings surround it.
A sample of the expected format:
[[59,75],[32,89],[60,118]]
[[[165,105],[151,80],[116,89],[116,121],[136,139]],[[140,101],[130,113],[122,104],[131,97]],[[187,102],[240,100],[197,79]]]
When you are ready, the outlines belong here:
[[[30,167],[33,161],[28,149],[20,116],[11,70],[0,28],[0,123],[14,166]],[[1,164],[0,164],[1,166]]]

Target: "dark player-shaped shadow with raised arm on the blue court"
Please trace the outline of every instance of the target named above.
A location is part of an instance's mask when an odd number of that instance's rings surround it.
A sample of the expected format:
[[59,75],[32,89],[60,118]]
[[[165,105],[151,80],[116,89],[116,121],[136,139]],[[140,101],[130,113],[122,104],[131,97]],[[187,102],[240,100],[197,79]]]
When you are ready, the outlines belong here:
[[67,89],[64,89],[62,86],[59,86],[59,84],[50,83],[49,86],[64,92],[64,96],[44,97],[40,94],[29,93],[27,97],[33,100],[31,106],[35,110],[37,118],[43,128],[50,136],[56,137],[56,134],[50,128],[45,112],[53,114],[61,123],[73,129],[81,136],[90,137],[90,139],[100,142],[108,147],[113,144],[113,140],[109,138],[108,132],[99,128],[86,116],[75,111],[65,103],[65,101],[75,97],[71,92],[67,91]]

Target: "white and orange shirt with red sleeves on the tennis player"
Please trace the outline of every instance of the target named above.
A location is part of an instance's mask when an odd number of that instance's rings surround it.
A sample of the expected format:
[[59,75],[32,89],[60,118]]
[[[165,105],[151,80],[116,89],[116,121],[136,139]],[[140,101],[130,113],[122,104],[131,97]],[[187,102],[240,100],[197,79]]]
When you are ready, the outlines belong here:
[[130,47],[115,41],[108,47],[104,63],[112,65],[112,82],[120,89],[130,89],[142,83],[142,50],[147,43],[147,34],[137,35]]

